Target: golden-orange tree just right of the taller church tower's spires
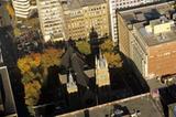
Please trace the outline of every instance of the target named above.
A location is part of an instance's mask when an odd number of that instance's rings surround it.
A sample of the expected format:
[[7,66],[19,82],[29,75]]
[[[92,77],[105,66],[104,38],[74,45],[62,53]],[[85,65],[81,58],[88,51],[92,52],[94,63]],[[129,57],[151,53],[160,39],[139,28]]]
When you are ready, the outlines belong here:
[[113,52],[105,52],[103,55],[106,56],[109,67],[122,67],[122,59],[119,54]]

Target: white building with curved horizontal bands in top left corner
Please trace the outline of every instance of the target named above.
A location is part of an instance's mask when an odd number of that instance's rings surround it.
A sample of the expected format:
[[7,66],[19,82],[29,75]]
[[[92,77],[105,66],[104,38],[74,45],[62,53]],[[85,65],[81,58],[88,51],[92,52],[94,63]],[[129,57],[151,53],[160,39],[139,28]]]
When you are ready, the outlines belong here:
[[36,11],[35,0],[12,0],[15,17],[30,18]]

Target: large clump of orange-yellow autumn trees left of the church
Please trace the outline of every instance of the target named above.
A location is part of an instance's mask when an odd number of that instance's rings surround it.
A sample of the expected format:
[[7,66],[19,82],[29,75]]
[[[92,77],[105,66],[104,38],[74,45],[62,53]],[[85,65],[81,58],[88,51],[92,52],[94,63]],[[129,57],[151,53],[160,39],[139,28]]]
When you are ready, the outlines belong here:
[[63,50],[47,49],[43,53],[32,53],[18,61],[24,85],[25,104],[32,113],[31,106],[37,105],[41,87],[47,78],[47,68],[59,65]]

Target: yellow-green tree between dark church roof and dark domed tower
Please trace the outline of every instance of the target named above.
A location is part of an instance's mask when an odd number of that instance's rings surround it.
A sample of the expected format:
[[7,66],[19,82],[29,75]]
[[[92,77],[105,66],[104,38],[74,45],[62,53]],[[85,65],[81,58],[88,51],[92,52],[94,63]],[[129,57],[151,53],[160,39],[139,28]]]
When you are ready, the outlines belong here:
[[79,52],[82,54],[90,54],[90,44],[87,41],[78,41],[76,42],[76,46],[78,47]]

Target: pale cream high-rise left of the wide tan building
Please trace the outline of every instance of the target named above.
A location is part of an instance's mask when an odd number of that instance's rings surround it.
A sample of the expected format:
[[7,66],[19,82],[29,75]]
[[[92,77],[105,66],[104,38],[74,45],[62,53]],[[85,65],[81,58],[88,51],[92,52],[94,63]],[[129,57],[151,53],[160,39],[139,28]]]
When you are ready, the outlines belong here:
[[64,40],[64,17],[61,1],[37,0],[37,9],[45,42]]

